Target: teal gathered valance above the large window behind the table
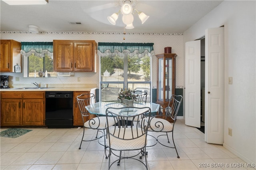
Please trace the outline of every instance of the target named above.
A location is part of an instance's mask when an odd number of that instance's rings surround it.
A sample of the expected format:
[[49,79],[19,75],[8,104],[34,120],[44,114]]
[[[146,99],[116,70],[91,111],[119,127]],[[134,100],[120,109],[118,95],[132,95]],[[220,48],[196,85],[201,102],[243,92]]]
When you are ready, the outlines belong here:
[[101,53],[105,53],[105,51],[109,50],[111,53],[115,53],[115,51],[124,51],[128,50],[130,53],[134,53],[134,51],[138,51],[136,53],[144,53],[144,51],[154,50],[154,43],[98,43],[98,51]]

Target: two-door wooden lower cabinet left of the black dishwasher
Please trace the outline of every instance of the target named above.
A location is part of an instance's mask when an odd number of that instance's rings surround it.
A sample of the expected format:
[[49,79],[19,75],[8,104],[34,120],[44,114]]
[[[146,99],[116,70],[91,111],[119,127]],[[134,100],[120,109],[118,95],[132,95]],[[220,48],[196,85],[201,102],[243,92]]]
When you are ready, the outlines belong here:
[[1,92],[1,126],[44,125],[45,92]]

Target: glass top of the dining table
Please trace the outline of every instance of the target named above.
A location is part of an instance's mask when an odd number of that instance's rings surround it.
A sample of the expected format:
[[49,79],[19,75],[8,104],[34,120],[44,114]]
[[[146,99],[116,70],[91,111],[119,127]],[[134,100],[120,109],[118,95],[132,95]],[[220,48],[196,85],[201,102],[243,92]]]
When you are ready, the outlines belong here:
[[[120,102],[96,102],[94,104],[90,104],[85,106],[85,108],[91,114],[97,115],[106,115],[106,109],[108,107],[121,108],[121,107],[129,107],[128,105],[122,104]],[[159,111],[159,104],[148,102],[148,103],[134,103],[132,107],[150,107],[151,115],[156,114]],[[128,111],[127,108],[124,108],[124,112],[129,113],[129,115],[136,114],[136,110]]]

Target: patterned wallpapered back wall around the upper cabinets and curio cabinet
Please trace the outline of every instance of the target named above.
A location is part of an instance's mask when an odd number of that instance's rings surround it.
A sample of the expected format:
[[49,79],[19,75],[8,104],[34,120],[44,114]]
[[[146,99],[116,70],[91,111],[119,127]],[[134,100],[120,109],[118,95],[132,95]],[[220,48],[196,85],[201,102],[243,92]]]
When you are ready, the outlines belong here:
[[[172,47],[172,53],[176,53],[176,86],[184,86],[184,54],[183,54],[183,35],[175,33],[157,34],[157,33],[138,33],[135,35],[124,35],[121,33],[84,33],[84,32],[46,32],[39,34],[19,33],[17,32],[1,32],[1,39],[14,39],[19,42],[50,42],[54,39],[74,39],[74,40],[95,40],[98,42],[116,42],[116,43],[154,43],[154,53],[164,53],[164,47]],[[99,70],[99,59],[98,59]],[[99,86],[99,71],[97,73],[75,72],[74,77],[58,77],[58,78],[23,78],[23,73],[5,73],[1,75],[10,76],[10,84],[30,84],[37,82],[40,84],[97,84]],[[19,77],[20,81],[16,81],[15,77]],[[77,82],[77,77],[81,78]],[[152,57],[152,87],[156,87],[157,79],[157,59]]]

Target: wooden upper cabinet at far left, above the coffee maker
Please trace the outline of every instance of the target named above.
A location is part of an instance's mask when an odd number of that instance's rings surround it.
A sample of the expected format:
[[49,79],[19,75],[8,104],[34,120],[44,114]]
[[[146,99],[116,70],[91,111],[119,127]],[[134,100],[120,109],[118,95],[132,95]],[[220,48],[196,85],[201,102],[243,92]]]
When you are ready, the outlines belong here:
[[14,66],[21,66],[21,43],[11,39],[1,39],[0,71],[14,72]]

